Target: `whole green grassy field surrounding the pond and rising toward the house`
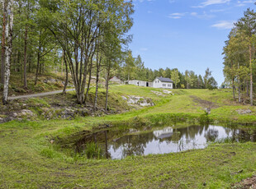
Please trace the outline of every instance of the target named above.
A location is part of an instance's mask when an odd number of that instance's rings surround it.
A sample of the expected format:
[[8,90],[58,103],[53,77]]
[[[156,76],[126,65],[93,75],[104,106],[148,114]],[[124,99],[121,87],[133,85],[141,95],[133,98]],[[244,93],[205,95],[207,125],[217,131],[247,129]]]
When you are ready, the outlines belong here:
[[[208,117],[215,122],[256,122],[256,108],[235,103],[230,90],[172,90],[174,95],[166,96],[151,90],[111,85],[115,94],[154,99],[154,107],[128,113],[1,124],[0,188],[229,188],[256,173],[256,144],[251,142],[212,144],[205,150],[122,160],[87,159],[58,144],[58,139],[68,139],[105,122],[119,127],[127,122],[172,121],[168,118],[189,122],[205,115],[204,108],[211,108]],[[239,115],[235,111],[242,108],[252,113]]]

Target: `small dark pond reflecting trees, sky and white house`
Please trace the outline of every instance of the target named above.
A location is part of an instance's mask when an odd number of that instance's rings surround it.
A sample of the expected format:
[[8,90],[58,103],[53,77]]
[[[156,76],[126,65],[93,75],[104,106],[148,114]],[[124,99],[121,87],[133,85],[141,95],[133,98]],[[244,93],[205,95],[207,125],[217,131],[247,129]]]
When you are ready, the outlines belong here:
[[[107,133],[107,153],[105,134]],[[119,137],[116,137],[119,136]],[[256,130],[234,129],[221,126],[189,126],[183,128],[162,127],[151,131],[130,129],[106,131],[94,134],[92,141],[99,144],[103,153],[111,159],[123,159],[128,155],[168,154],[184,150],[203,149],[209,142],[216,141],[256,141]],[[86,140],[88,142],[88,140]],[[79,151],[86,144],[78,145]]]

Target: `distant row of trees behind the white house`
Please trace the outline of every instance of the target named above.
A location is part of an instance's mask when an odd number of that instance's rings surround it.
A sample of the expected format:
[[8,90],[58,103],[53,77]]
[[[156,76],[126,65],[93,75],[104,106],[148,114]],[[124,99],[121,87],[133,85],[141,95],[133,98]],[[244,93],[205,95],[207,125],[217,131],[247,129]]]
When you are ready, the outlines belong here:
[[204,76],[197,75],[195,71],[186,70],[183,73],[177,68],[169,67],[152,70],[145,67],[140,55],[134,58],[131,51],[128,51],[125,62],[116,69],[115,74],[122,81],[154,81],[155,77],[167,77],[173,80],[175,88],[178,89],[216,89],[218,86],[209,68],[206,69]]

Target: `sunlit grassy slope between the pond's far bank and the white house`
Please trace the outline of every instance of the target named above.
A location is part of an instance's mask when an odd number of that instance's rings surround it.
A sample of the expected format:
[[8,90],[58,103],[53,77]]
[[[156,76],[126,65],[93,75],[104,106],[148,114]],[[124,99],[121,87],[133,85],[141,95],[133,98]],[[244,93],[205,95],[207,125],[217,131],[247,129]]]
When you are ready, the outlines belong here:
[[[209,118],[219,120],[220,122],[256,122],[256,107],[238,104],[233,101],[231,90],[172,90],[175,95],[168,97],[158,97],[151,92],[151,88],[141,88],[136,86],[112,86],[111,90],[119,91],[124,94],[129,93],[129,95],[147,95],[154,100],[169,100],[169,102],[161,104],[160,106],[149,108],[144,111],[144,113],[137,113],[140,116],[156,113],[186,113],[199,116],[200,114],[205,113],[204,108],[207,108],[208,105],[198,103],[191,97],[197,96],[199,99],[214,104],[214,107],[211,108]],[[239,115],[239,113],[235,111],[237,109],[247,108],[252,111],[251,114]],[[134,116],[136,113],[130,114]]]

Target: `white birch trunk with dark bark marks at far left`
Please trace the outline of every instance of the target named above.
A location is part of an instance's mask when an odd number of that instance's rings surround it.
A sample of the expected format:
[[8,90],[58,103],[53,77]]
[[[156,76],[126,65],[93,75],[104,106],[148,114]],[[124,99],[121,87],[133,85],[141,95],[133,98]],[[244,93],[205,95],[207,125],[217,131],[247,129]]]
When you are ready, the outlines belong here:
[[3,0],[3,3],[7,2],[6,18],[7,26],[5,30],[5,35],[7,39],[5,47],[5,71],[4,71],[4,83],[3,83],[3,94],[2,94],[2,104],[7,104],[8,96],[8,86],[10,80],[10,65],[11,65],[11,55],[12,55],[12,30],[13,30],[13,0]]

